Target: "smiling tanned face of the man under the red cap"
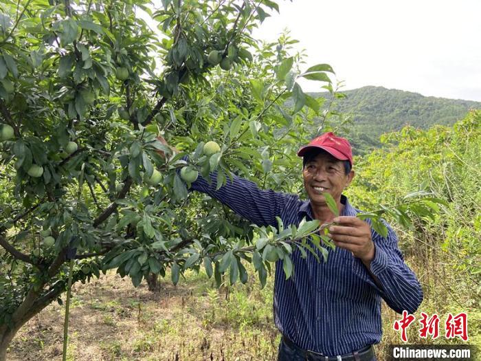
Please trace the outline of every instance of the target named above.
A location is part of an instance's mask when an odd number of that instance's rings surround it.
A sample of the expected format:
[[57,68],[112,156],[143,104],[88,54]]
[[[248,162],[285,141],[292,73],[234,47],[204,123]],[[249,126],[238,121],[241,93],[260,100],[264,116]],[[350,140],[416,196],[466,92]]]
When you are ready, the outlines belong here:
[[322,193],[329,193],[335,201],[339,202],[342,191],[353,180],[354,171],[350,171],[346,175],[344,162],[323,152],[306,162],[302,170],[302,177],[311,203],[324,205],[326,199]]

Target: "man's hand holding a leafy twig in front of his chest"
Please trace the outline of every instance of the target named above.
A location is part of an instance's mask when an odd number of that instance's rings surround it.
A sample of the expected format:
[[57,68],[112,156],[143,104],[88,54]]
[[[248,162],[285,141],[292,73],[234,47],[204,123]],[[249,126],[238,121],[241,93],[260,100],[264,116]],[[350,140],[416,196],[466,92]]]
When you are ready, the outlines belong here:
[[353,256],[361,259],[369,268],[375,254],[369,224],[350,216],[336,217],[333,221],[338,224],[329,227],[328,237],[331,237],[338,247],[352,252]]

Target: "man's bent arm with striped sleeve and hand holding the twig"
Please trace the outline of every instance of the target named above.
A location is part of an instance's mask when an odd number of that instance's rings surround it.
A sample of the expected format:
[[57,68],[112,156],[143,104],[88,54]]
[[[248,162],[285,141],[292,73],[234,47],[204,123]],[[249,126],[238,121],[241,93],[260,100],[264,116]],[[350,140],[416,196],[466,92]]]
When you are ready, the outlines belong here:
[[404,263],[397,237],[388,226],[381,237],[357,217],[337,217],[329,228],[335,244],[353,252],[355,272],[370,283],[394,311],[413,313],[423,300],[423,290],[414,272]]

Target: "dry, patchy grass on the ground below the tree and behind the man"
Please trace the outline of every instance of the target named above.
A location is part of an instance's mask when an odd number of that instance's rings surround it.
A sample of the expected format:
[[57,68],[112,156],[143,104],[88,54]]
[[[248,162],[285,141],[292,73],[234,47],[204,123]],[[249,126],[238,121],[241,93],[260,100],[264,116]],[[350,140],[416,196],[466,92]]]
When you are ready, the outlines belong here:
[[[416,272],[423,274],[421,268]],[[424,284],[427,294],[416,312],[416,324],[421,311],[437,312],[441,337],[435,343],[450,343],[443,338],[445,315],[468,311],[469,344],[479,344],[481,312],[455,307],[449,298],[442,298],[436,278],[426,279],[431,281]],[[87,285],[74,285],[68,359],[276,360],[280,334],[273,324],[272,277],[265,289],[256,278],[249,278],[246,285],[216,289],[205,274],[195,272],[187,272],[177,287],[169,280],[168,274],[155,292],[149,292],[145,283],[135,289],[115,272]],[[63,314],[64,308],[52,303],[30,320],[14,338],[8,360],[61,360]],[[385,360],[388,344],[401,343],[392,329],[399,319],[383,305],[383,342],[376,347],[379,360]],[[418,325],[410,327],[410,343],[433,343],[421,340],[417,329]]]

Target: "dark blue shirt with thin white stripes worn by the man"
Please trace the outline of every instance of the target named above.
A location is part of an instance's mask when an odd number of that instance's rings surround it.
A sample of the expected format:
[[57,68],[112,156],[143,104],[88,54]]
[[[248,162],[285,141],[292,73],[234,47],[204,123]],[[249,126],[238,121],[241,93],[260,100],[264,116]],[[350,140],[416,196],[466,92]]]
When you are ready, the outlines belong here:
[[[285,225],[298,225],[306,217],[313,219],[309,201],[298,195],[261,190],[254,182],[234,176],[232,182],[216,190],[216,173],[212,184],[199,177],[191,189],[207,193],[229,206],[238,215],[258,226],[277,226],[276,216]],[[355,216],[359,210],[350,206],[343,195],[342,215]],[[282,260],[276,262],[274,281],[274,320],[280,332],[298,344],[324,355],[342,355],[381,340],[381,298],[394,311],[414,312],[423,300],[416,276],[403,261],[397,237],[388,226],[388,237],[371,230],[376,247],[371,272],[348,250],[329,249],[328,261],[318,263],[310,253],[302,259],[293,250],[294,271],[285,279]]]

